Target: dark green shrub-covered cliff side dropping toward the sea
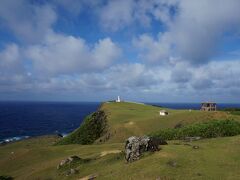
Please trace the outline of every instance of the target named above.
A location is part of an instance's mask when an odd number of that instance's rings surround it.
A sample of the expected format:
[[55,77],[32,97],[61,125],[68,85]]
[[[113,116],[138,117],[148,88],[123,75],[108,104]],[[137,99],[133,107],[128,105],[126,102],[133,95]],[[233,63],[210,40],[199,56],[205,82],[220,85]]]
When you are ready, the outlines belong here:
[[104,111],[99,110],[87,116],[78,129],[61,139],[57,144],[92,144],[104,135],[106,130],[107,116]]

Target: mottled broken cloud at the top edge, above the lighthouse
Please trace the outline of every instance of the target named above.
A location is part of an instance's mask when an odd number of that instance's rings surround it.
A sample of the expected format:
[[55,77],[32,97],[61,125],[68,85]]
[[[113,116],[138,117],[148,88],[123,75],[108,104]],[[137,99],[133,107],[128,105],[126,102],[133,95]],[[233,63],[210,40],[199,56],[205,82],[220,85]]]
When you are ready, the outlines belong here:
[[150,27],[152,20],[168,23],[172,19],[170,8],[177,0],[109,0],[98,7],[100,25],[109,31],[118,31],[139,24]]

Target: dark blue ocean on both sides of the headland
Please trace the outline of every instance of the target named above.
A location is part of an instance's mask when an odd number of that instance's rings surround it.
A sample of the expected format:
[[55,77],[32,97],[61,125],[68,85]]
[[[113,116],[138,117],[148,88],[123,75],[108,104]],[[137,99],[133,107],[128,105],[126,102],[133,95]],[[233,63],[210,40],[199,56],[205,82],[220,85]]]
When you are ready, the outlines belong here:
[[[199,109],[198,103],[146,103],[172,109]],[[0,142],[62,134],[78,128],[100,102],[0,102]],[[218,109],[240,104],[217,104]]]

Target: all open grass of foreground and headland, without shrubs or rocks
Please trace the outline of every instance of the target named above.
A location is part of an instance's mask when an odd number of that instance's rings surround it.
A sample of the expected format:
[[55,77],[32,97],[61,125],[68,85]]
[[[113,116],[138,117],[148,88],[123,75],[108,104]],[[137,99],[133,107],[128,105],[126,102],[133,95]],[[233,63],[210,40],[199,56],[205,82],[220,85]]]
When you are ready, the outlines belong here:
[[[162,150],[146,153],[136,162],[126,163],[124,140],[131,135],[149,134],[213,119],[235,119],[227,112],[168,110],[169,116],[159,116],[161,108],[134,103],[104,103],[110,138],[98,139],[92,145],[54,145],[58,137],[32,138],[0,146],[0,175],[15,179],[80,179],[96,175],[97,179],[240,179],[240,136],[203,139],[186,143],[169,141]],[[199,149],[194,149],[193,146]],[[77,168],[79,173],[66,176],[57,170],[62,159],[77,155],[90,159]]]

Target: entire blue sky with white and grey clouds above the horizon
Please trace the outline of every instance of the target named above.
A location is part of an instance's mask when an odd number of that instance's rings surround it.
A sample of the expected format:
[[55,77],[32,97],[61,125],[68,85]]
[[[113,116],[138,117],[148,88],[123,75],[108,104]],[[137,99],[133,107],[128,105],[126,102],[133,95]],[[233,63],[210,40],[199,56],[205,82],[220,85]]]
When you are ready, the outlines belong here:
[[1,0],[0,100],[240,102],[239,0]]

